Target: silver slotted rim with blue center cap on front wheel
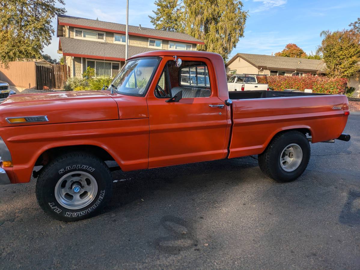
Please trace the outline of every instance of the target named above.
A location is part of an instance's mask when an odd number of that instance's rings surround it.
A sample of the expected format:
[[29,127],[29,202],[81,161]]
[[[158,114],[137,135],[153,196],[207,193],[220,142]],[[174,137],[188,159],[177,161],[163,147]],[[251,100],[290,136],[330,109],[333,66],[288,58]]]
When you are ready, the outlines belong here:
[[67,209],[81,209],[89,205],[98,193],[95,178],[85,171],[64,175],[55,186],[55,198]]

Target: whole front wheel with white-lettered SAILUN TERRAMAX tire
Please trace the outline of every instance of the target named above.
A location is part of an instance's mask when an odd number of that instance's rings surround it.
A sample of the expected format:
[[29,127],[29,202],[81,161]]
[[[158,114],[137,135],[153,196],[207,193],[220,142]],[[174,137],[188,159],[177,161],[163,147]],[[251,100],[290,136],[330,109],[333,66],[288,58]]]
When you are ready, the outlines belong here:
[[86,219],[97,214],[112,193],[108,166],[85,152],[71,152],[51,161],[36,183],[40,207],[62,221]]

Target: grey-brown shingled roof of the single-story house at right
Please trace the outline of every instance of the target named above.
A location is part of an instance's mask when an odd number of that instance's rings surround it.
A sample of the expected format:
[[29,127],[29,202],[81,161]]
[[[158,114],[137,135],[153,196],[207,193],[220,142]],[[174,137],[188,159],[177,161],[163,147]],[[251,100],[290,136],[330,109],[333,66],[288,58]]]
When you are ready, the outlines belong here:
[[[257,67],[267,67],[275,69],[292,69],[292,70],[324,70],[325,64],[323,60],[292,58],[284,56],[272,56],[262,54],[242,54],[235,55],[249,61]],[[233,58],[233,59],[234,59]],[[231,60],[233,60],[231,59]],[[230,61],[231,61],[230,60]],[[229,61],[229,62],[230,62]]]

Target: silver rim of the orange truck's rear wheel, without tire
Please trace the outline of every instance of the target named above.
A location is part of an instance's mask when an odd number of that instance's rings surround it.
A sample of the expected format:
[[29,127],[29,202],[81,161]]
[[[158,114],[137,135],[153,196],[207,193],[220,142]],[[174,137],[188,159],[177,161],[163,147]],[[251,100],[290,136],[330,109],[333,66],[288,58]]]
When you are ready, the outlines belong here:
[[281,152],[280,166],[285,171],[293,171],[298,168],[302,160],[302,149],[296,143],[291,143]]

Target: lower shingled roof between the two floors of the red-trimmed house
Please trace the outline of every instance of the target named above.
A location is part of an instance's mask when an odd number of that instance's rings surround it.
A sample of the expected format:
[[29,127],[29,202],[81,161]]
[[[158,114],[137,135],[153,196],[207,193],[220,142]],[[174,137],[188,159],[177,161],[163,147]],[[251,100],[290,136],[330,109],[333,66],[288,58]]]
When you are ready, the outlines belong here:
[[[64,55],[89,57],[96,59],[125,60],[125,45],[116,43],[104,43],[92,40],[82,40],[77,38],[60,37],[60,45]],[[156,51],[145,47],[129,46],[129,57],[147,51]],[[96,56],[96,57],[95,57]]]

